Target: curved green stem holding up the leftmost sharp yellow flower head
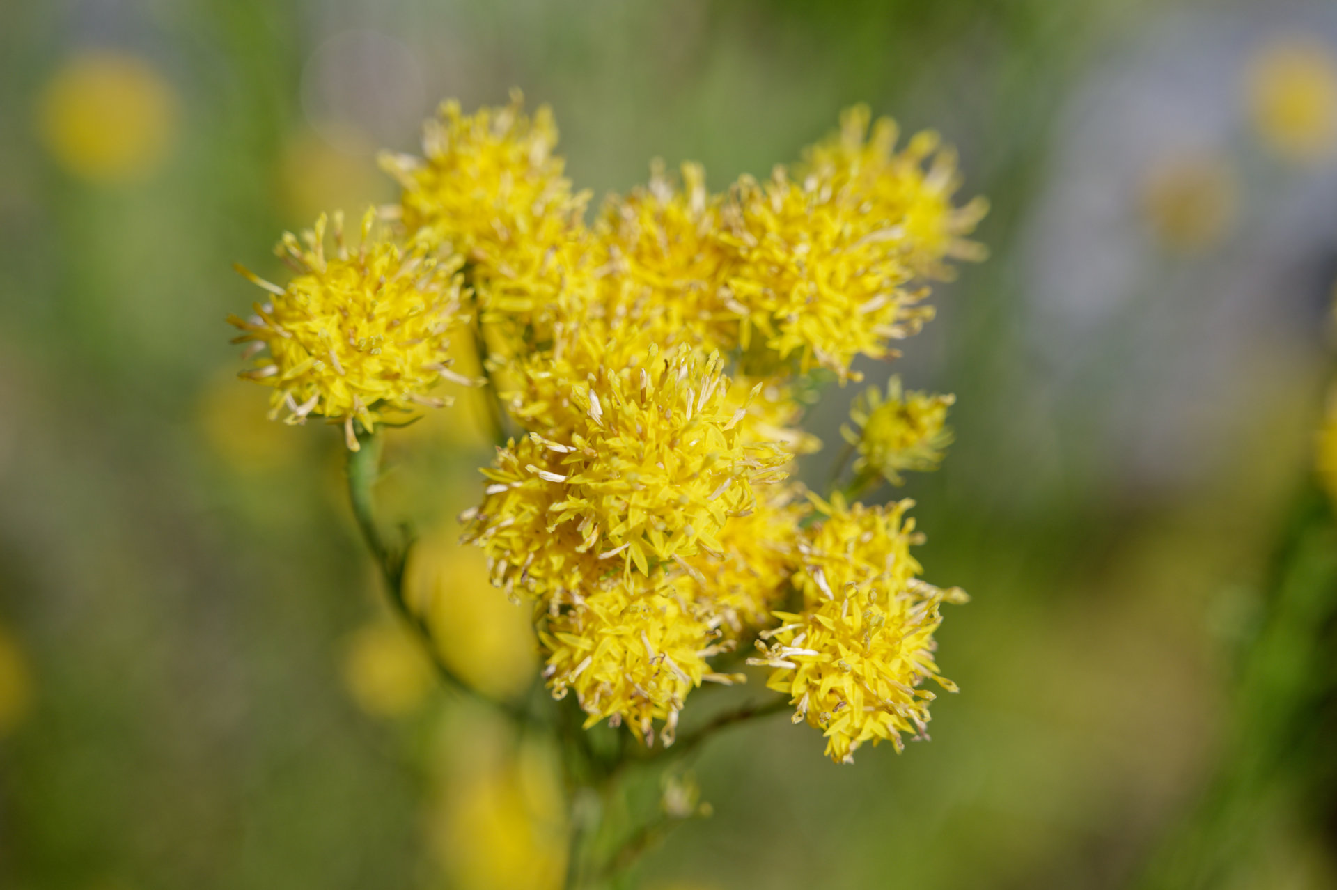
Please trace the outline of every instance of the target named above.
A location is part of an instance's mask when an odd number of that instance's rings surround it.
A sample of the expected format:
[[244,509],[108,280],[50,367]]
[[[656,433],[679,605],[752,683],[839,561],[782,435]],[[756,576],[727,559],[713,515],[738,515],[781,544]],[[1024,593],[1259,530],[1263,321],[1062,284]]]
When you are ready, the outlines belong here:
[[405,533],[402,541],[392,544],[376,520],[376,496],[373,489],[381,473],[382,440],[378,433],[360,432],[357,434],[357,444],[360,446],[358,450],[348,453],[349,504],[353,506],[353,516],[357,520],[358,531],[362,533],[362,540],[366,541],[366,548],[372,552],[377,567],[381,569],[381,577],[385,580],[385,592],[390,600],[390,605],[394,607],[394,611],[404,619],[404,623],[418,637],[422,648],[432,659],[437,675],[440,675],[447,686],[501,711],[516,723],[527,723],[528,714],[524,708],[516,707],[509,702],[493,699],[456,674],[441,659],[427,620],[408,604],[404,591],[404,567],[408,561],[408,552],[413,545],[413,539]]

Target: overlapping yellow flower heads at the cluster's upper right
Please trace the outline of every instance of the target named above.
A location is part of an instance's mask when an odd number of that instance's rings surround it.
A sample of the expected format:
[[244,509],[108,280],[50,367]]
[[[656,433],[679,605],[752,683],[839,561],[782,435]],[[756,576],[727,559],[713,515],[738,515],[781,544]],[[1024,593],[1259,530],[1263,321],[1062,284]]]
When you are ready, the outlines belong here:
[[842,381],[860,378],[849,367],[856,355],[892,355],[888,341],[933,317],[919,305],[928,290],[917,282],[945,277],[947,258],[980,257],[961,235],[985,208],[952,207],[955,156],[935,154],[932,134],[893,154],[890,122],[870,142],[866,130],[866,108],[846,112],[841,134],[808,152],[797,179],[783,167],[765,184],[745,176],[723,210],[743,349],[755,329],[781,358],[797,354],[801,372],[820,365]]

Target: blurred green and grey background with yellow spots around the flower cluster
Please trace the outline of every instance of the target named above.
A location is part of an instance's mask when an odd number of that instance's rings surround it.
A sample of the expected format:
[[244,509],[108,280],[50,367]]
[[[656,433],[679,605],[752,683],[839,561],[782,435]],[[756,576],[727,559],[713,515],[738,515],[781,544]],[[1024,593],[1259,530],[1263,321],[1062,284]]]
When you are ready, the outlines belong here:
[[[973,595],[961,695],[853,767],[731,731],[635,886],[1337,886],[1332,4],[52,0],[0,4],[0,887],[555,886],[541,746],[424,680],[340,436],[265,421],[223,322],[234,261],[393,199],[377,148],[512,86],[596,198],[654,156],[765,175],[868,102],[993,207],[894,365],[957,394],[908,494]],[[460,601],[475,408],[386,485]]]

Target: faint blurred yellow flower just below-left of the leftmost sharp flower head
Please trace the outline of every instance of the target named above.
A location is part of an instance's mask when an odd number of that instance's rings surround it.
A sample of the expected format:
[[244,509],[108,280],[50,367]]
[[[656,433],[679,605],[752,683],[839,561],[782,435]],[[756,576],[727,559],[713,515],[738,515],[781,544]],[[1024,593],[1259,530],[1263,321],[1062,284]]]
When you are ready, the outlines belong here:
[[275,469],[302,453],[302,442],[287,428],[265,417],[266,397],[254,386],[238,386],[234,374],[205,384],[197,422],[205,442],[237,470]]

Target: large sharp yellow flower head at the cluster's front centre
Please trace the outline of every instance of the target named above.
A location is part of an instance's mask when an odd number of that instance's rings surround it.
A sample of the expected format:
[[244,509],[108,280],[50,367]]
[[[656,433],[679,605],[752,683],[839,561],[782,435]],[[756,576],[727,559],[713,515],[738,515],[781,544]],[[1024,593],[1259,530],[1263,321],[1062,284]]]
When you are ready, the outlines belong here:
[[495,583],[579,587],[614,559],[648,575],[651,560],[719,552],[725,520],[754,509],[754,485],[783,478],[777,468],[790,460],[743,438],[746,410],[727,410],[729,385],[718,355],[679,349],[564,392],[560,440],[533,433],[484,470],[492,484],[469,537]]

